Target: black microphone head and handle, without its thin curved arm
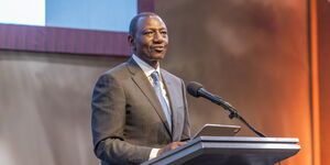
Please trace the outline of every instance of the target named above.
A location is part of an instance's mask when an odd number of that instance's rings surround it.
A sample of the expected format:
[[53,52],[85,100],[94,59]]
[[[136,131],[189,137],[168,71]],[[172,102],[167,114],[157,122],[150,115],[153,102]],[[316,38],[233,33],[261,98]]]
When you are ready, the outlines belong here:
[[187,91],[188,94],[190,94],[191,96],[198,98],[198,97],[204,97],[219,106],[221,106],[224,109],[232,109],[233,107],[228,103],[227,101],[224,101],[222,98],[207,91],[206,89],[202,88],[202,85],[196,81],[190,81],[187,85]]

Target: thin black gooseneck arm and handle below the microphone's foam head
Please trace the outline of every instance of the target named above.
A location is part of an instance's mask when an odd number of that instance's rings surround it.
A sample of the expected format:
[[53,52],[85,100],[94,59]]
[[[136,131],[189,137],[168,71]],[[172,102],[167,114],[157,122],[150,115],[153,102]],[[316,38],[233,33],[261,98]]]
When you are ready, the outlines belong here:
[[[206,91],[206,90],[205,90]],[[211,95],[210,92],[205,92],[205,91],[199,91],[202,92],[204,95],[210,97],[210,98],[217,98],[217,99],[212,99],[211,101],[221,106],[224,110],[229,111],[229,119],[233,119],[237,118],[240,122],[242,122],[243,124],[245,124],[250,130],[252,130],[255,134],[257,134],[261,138],[266,138],[265,134],[261,133],[260,131],[257,131],[254,127],[252,127],[242,116],[239,114],[238,110],[235,110],[231,105],[229,105],[228,102],[223,101],[222,98],[216,96],[216,95]]]

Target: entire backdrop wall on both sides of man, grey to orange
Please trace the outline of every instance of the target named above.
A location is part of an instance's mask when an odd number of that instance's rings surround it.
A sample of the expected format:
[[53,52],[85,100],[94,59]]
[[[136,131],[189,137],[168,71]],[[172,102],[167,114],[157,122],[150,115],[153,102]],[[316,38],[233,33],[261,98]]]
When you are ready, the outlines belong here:
[[[169,29],[162,67],[229,100],[268,136],[299,138],[286,164],[311,164],[307,3],[299,0],[155,1]],[[0,51],[0,164],[91,165],[90,95],[125,57]],[[193,132],[240,124],[188,97]],[[243,127],[243,125],[242,125]],[[254,135],[245,127],[239,135]]]

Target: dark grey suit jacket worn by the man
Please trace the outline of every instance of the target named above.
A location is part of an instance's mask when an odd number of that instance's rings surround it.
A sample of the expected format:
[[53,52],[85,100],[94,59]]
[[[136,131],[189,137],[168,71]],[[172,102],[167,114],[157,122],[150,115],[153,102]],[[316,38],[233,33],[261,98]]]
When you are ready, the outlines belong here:
[[153,147],[188,140],[190,125],[183,80],[161,69],[172,109],[173,132],[154,88],[130,58],[98,79],[92,94],[95,153],[102,165],[140,164]]

